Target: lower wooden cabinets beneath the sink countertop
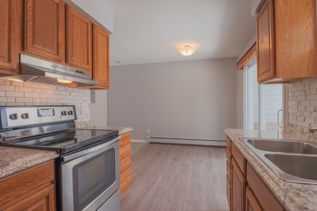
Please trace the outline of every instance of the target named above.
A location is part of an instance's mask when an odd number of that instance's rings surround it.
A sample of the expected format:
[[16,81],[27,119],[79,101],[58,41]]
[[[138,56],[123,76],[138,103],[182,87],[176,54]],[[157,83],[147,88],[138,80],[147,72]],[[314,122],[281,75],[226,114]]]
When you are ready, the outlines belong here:
[[285,211],[235,144],[228,139],[226,191],[230,211]]

